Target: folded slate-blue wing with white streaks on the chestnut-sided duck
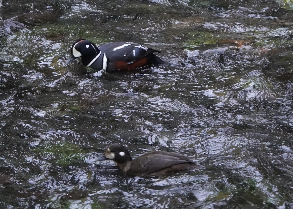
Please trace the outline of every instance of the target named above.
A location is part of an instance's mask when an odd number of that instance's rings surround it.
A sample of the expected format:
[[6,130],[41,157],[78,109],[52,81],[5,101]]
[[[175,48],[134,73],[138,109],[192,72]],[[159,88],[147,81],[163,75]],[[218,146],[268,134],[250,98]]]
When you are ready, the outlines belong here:
[[132,42],[108,43],[98,47],[98,49],[100,49],[102,53],[106,53],[110,62],[123,61],[127,64],[132,64],[154,52],[160,52]]

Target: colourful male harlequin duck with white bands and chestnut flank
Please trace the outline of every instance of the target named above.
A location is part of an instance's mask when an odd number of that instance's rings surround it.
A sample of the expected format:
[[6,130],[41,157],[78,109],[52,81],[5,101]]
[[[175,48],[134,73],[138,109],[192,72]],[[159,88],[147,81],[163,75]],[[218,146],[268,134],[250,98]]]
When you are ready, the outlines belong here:
[[168,63],[154,52],[160,53],[132,42],[114,42],[97,47],[88,40],[78,39],[72,44],[71,54],[65,64],[81,57],[82,64],[96,70],[134,70],[144,66],[168,66]]

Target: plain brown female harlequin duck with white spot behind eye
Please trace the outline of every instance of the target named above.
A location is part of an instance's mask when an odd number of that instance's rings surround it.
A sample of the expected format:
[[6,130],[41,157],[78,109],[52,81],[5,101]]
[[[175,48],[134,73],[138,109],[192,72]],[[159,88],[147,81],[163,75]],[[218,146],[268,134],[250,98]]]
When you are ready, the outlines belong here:
[[121,144],[111,144],[98,161],[114,160],[120,169],[132,176],[164,175],[198,168],[188,157],[172,152],[154,151],[141,155],[134,160]]

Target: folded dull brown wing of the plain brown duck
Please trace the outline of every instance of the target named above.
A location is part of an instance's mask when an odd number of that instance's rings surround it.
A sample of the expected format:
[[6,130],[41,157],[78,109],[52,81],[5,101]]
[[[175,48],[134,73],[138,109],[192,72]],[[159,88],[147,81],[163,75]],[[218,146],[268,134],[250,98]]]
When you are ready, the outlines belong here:
[[135,158],[132,161],[133,165],[140,165],[140,167],[133,166],[128,170],[129,173],[141,173],[151,174],[166,167],[172,165],[178,165],[181,163],[192,163],[195,164],[188,157],[178,154],[164,151],[155,151],[147,153],[140,157]]

